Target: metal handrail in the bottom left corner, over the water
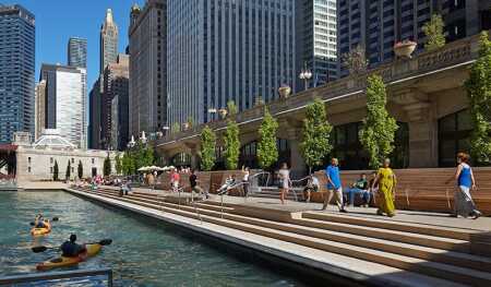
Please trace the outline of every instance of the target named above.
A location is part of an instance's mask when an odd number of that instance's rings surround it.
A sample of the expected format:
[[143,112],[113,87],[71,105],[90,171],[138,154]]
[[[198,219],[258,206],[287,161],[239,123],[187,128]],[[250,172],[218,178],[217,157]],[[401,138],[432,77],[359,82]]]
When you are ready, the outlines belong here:
[[107,275],[107,286],[112,287],[112,270],[111,268],[74,270],[74,271],[5,276],[5,277],[0,277],[0,285],[13,285],[13,284],[33,283],[33,282],[40,282],[40,280],[80,278],[80,277],[98,276],[98,275]]

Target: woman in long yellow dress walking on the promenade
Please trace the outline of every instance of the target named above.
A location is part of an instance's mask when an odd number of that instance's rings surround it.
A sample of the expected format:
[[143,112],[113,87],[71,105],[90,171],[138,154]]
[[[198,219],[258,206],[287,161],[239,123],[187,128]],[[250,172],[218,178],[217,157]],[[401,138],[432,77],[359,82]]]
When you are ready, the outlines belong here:
[[385,213],[388,217],[392,217],[395,215],[394,193],[397,179],[390,166],[391,159],[386,158],[384,166],[379,169],[372,189],[379,183],[379,210],[376,214],[383,215]]

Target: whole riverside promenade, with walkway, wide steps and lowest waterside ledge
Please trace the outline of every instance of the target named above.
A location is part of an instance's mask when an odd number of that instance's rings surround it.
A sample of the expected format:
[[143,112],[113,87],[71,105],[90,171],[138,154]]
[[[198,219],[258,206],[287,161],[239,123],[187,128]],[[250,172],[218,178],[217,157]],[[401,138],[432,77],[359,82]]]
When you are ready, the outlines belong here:
[[77,196],[124,208],[267,253],[347,286],[491,286],[491,218],[400,211],[393,218],[374,208],[264,198],[133,189],[69,188]]

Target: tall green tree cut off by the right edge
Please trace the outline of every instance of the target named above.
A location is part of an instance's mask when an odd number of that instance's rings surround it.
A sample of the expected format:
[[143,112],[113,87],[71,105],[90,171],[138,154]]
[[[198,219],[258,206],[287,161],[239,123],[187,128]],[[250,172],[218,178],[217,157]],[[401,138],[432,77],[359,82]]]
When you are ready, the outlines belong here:
[[480,36],[479,58],[465,82],[469,98],[472,134],[470,154],[476,164],[491,162],[491,41],[488,32]]

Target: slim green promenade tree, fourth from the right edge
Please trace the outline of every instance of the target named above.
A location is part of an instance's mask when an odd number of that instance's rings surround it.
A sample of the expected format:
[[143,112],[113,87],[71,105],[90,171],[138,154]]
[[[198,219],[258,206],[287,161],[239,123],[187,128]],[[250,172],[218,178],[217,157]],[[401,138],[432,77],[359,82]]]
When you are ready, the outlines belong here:
[[258,160],[261,168],[266,169],[278,160],[278,147],[276,146],[276,131],[278,122],[271,116],[267,107],[264,108],[264,119],[259,130]]

